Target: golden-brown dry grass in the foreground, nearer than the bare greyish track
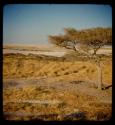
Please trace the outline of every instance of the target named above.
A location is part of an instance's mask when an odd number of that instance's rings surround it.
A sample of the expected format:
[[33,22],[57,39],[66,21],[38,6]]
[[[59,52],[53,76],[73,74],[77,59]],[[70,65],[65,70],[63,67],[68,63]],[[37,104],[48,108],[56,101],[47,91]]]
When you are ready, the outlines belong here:
[[[18,103],[19,100],[59,100],[57,104],[32,104]],[[10,88],[3,92],[4,112],[13,113],[29,113],[29,114],[72,114],[83,112],[86,120],[106,120],[111,117],[111,105],[98,103],[93,96],[84,95],[82,93],[68,93],[67,91],[56,91],[55,89],[47,89],[41,87],[28,86],[22,89]],[[15,102],[12,102],[15,101]],[[99,114],[101,112],[101,114]],[[97,113],[97,114],[96,114]],[[105,114],[105,116],[103,116]],[[107,115],[108,114],[108,115]],[[16,116],[15,116],[16,117]],[[16,118],[13,117],[12,119]],[[101,118],[104,117],[104,118]],[[19,117],[21,118],[21,117]],[[6,117],[6,119],[11,119]],[[29,116],[25,116],[23,120],[32,120]],[[46,120],[45,118],[42,118]],[[48,118],[50,120],[50,117]],[[68,119],[68,118],[67,118]],[[77,118],[76,118],[77,119]],[[85,120],[84,119],[84,120]],[[55,120],[51,118],[51,120]],[[59,119],[57,119],[59,120]],[[64,120],[60,117],[60,120]]]

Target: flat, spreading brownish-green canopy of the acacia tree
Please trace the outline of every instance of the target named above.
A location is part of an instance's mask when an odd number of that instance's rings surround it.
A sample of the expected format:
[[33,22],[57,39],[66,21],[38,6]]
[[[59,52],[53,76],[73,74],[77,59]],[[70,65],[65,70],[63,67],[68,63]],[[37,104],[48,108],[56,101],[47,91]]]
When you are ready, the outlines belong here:
[[49,41],[66,49],[76,49],[79,45],[82,49],[93,49],[94,54],[103,45],[112,44],[112,29],[111,28],[91,28],[76,30],[74,28],[64,28],[64,35],[49,36]]

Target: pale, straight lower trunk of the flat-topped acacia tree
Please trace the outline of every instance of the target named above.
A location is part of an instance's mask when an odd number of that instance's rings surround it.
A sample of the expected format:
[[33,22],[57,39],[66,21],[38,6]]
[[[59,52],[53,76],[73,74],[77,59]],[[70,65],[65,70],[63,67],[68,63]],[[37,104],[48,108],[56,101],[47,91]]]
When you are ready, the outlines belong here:
[[97,65],[97,70],[98,70],[98,89],[101,90],[102,89],[102,67],[100,62]]

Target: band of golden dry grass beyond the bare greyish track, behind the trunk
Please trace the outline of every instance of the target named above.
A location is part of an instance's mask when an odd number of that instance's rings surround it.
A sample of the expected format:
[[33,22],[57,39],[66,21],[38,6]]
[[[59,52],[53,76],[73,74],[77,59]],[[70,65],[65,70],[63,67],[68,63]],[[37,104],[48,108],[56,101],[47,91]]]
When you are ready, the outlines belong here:
[[[112,83],[112,61],[110,59],[102,62],[103,82]],[[5,78],[27,78],[27,77],[58,77],[61,79],[97,79],[96,65],[89,61],[52,61],[37,60],[37,58],[25,58],[19,55],[4,56],[3,77]]]

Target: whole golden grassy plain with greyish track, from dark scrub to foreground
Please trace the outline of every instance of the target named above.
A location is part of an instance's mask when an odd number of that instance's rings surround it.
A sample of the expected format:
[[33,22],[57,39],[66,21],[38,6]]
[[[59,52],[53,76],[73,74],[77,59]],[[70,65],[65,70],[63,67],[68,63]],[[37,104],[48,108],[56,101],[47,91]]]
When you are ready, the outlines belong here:
[[96,64],[83,55],[4,54],[4,119],[111,119],[112,57],[100,58],[104,90],[98,90],[95,84]]

